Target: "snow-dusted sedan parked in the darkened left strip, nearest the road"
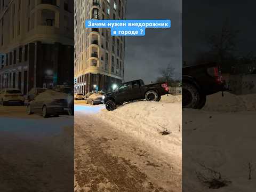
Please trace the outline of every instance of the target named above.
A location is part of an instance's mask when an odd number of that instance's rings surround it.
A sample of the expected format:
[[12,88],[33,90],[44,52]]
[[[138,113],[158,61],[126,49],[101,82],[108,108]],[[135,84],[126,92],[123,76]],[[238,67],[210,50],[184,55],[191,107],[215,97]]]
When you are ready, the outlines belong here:
[[[63,92],[65,91],[65,92]],[[46,90],[28,103],[27,114],[42,114],[44,118],[67,114],[68,92],[65,89]]]

